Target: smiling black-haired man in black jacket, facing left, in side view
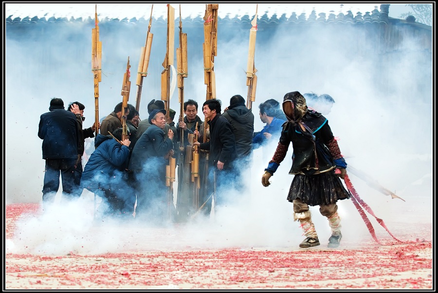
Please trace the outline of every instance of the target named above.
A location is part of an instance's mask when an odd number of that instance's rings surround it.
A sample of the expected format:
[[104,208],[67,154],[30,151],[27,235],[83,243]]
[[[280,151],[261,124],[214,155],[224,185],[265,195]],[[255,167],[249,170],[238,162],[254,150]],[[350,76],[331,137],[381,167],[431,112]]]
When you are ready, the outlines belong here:
[[208,120],[210,141],[201,144],[194,142],[200,149],[210,151],[208,182],[211,184],[209,184],[210,190],[204,194],[206,198],[203,199],[203,202],[207,201],[207,210],[210,211],[212,192],[214,192],[215,207],[219,207],[225,206],[229,201],[226,197],[227,190],[236,190],[236,140],[231,124],[220,114],[220,106],[220,101],[217,99],[204,102],[202,112]]

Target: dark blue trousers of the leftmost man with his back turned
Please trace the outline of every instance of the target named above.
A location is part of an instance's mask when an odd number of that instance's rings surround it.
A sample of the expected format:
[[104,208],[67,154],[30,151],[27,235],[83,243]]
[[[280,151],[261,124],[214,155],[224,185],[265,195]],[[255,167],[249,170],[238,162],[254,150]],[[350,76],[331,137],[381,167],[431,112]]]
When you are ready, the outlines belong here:
[[63,199],[74,198],[74,163],[76,159],[46,159],[44,173],[44,186],[42,189],[43,202],[55,201],[59,189],[59,176],[61,176]]

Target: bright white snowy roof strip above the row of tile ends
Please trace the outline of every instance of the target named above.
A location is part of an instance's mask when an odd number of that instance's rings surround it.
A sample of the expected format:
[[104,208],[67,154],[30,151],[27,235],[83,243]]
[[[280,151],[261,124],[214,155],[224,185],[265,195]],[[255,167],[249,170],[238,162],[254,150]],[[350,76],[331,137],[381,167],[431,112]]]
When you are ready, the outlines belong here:
[[[152,3],[99,3],[99,2],[82,2],[82,3],[19,3],[3,2],[5,6],[5,18],[94,18],[94,13],[97,4],[97,16],[102,18],[145,18],[149,19]],[[254,16],[256,13],[256,3],[219,3],[218,17],[229,18],[242,17],[249,15]],[[180,17],[180,3],[170,3],[175,8],[175,18]],[[372,12],[374,9],[380,10],[380,3],[258,3],[257,15],[260,17],[264,14],[271,18],[274,14],[277,17],[285,14],[289,18],[293,12],[296,15],[305,13],[309,16],[312,10],[318,13],[339,13],[346,14],[351,11],[353,15],[357,12],[364,14]],[[182,18],[203,18],[205,14],[205,3],[181,3]],[[167,17],[167,4],[154,3],[153,18]]]

